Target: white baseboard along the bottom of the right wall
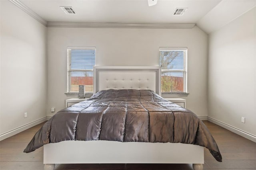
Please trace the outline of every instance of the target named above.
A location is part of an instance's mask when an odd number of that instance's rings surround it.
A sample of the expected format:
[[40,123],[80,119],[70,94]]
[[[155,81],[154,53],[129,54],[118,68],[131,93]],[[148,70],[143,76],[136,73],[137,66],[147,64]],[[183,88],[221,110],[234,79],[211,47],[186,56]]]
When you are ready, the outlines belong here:
[[228,129],[229,131],[232,131],[232,132],[234,132],[234,133],[236,133],[236,134],[238,134],[238,135],[240,135],[242,137],[245,137],[246,139],[249,139],[251,141],[256,142],[256,136],[254,136],[254,135],[252,135],[250,133],[244,132],[244,131],[242,131],[242,130],[236,128],[236,127],[230,126],[230,125],[228,125],[226,123],[222,123],[221,121],[218,121],[218,120],[213,119],[211,117],[208,117],[208,121],[210,121],[210,122],[212,122],[212,123],[214,123],[216,125],[219,125],[219,126],[225,128],[225,129]]

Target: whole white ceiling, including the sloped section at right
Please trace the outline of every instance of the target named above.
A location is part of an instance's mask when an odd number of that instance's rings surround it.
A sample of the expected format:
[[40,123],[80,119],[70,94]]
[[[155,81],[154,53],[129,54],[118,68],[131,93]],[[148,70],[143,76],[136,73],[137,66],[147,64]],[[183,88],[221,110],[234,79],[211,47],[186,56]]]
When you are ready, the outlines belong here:
[[[17,0],[16,0],[17,1]],[[210,33],[255,6],[256,0],[18,0],[48,22],[196,23]],[[60,6],[72,6],[75,15]],[[188,8],[173,16],[176,8]]]

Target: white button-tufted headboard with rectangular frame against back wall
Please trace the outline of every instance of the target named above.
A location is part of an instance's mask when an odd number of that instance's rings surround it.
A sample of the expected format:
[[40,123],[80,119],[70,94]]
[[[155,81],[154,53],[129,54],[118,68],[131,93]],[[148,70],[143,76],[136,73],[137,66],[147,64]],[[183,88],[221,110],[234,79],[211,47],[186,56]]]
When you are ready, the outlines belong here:
[[94,66],[94,93],[108,89],[148,89],[161,94],[158,66]]

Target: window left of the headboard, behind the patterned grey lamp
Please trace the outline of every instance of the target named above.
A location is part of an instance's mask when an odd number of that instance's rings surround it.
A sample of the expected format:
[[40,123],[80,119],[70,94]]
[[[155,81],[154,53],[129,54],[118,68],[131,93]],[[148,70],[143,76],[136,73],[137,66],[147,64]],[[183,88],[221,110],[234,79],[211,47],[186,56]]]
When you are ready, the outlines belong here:
[[67,92],[78,93],[79,85],[84,85],[85,92],[92,93],[95,47],[68,47],[67,56]]

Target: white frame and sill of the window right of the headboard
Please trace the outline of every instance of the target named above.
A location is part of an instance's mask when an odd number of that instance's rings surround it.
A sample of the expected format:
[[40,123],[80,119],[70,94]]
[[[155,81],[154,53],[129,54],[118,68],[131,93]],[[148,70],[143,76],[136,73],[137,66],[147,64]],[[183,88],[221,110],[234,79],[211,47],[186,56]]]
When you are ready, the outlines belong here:
[[[187,47],[159,47],[159,55],[158,55],[158,61],[159,61],[159,66],[160,65],[160,51],[186,51],[186,56],[185,56],[185,67],[183,70],[171,70],[171,69],[162,69],[161,72],[184,72],[185,73],[185,78],[183,80],[185,81],[184,83],[184,92],[161,92],[162,97],[175,97],[175,96],[188,96],[188,48]],[[161,73],[162,74],[162,73]],[[161,78],[162,81],[162,78]]]

